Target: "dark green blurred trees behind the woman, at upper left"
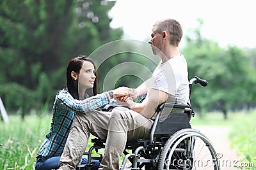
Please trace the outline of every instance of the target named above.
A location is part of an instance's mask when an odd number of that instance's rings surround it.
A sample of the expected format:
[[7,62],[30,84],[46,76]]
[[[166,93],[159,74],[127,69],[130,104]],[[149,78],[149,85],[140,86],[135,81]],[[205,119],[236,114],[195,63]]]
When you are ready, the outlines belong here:
[[0,96],[7,110],[20,109],[24,117],[29,108],[52,103],[56,91],[65,86],[68,60],[120,39],[122,30],[109,27],[108,11],[114,4],[1,1]]

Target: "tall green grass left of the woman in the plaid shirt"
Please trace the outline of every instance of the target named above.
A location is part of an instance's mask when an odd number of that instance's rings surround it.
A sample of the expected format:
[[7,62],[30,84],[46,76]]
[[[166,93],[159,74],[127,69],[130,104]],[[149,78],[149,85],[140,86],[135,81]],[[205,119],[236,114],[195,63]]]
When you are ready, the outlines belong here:
[[29,115],[24,122],[18,116],[10,122],[0,122],[0,169],[35,169],[35,157],[44,136],[49,131],[51,116]]

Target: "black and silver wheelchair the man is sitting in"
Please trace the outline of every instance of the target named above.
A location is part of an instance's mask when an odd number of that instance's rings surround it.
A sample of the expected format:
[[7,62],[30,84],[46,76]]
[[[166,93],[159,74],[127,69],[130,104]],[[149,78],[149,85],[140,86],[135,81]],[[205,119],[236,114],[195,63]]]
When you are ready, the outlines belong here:
[[[203,87],[207,81],[195,77],[189,81],[189,97],[193,83]],[[115,106],[106,105],[102,110],[111,111]],[[167,114],[166,114],[167,113]],[[163,116],[165,115],[165,116]],[[189,123],[195,113],[189,106],[163,103],[156,109],[150,139],[138,139],[127,143],[120,170],[124,169],[220,169],[220,161],[211,141],[200,131],[192,129]],[[88,164],[80,169],[91,169],[91,160],[102,160],[99,149],[104,148],[105,139],[92,139],[93,146],[84,155]],[[92,151],[99,156],[93,156]]]

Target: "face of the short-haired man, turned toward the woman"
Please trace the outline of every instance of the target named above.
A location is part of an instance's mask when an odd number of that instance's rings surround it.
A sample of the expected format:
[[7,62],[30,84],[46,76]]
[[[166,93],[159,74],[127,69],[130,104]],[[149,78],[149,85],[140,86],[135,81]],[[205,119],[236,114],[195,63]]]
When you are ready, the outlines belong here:
[[152,52],[157,55],[158,53],[161,52],[162,50],[162,43],[161,43],[161,39],[163,38],[163,36],[159,33],[157,33],[156,31],[152,30],[151,33],[151,39],[150,41],[148,41],[148,43],[151,45],[152,47]]

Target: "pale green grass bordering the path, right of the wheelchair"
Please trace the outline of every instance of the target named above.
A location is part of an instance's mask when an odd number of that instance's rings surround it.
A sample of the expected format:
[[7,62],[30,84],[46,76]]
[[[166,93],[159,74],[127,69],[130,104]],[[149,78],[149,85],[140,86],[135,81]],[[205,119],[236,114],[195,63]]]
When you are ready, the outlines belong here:
[[[256,169],[256,110],[248,112],[229,113],[224,120],[221,113],[208,113],[200,117],[191,118],[191,125],[219,125],[232,128],[229,139],[231,147],[236,150],[244,162],[250,163],[248,167],[238,169]],[[242,161],[242,160],[241,160]],[[253,165],[253,167],[252,167]]]

